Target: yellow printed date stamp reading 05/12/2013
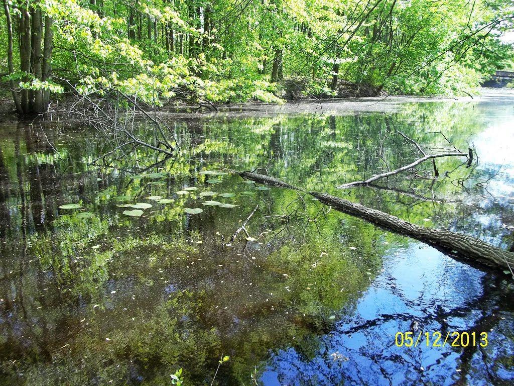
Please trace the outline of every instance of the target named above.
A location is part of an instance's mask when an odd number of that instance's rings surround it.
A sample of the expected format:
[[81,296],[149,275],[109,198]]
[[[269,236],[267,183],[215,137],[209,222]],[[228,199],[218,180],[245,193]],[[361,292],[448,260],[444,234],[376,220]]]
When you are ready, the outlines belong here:
[[487,332],[460,332],[460,331],[448,331],[446,336],[441,334],[439,331],[435,332],[423,332],[419,334],[412,331],[396,332],[394,343],[397,347],[476,347],[487,346]]

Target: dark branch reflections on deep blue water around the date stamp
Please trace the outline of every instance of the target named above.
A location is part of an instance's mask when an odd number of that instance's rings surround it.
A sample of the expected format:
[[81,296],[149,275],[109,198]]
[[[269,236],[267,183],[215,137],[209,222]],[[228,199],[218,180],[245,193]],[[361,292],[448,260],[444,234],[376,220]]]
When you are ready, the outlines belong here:
[[[430,384],[462,385],[483,380],[487,384],[509,384],[514,377],[512,349],[514,335],[509,315],[514,311],[512,286],[502,277],[484,273],[478,296],[462,305],[447,307],[433,299],[423,315],[400,312],[381,314],[376,319],[345,318],[338,328],[319,339],[315,354],[299,349],[277,353],[268,363],[262,379],[272,372],[281,384]],[[399,291],[391,290],[405,304]],[[415,323],[414,323],[415,322]],[[413,331],[414,341],[423,331],[418,347],[396,347],[397,332]],[[447,332],[476,334],[476,346],[426,347],[425,332],[439,331],[442,344]],[[481,347],[481,332],[488,333],[488,345]],[[491,332],[492,331],[492,332]],[[384,339],[386,337],[386,339]],[[433,343],[435,338],[431,337]],[[357,346],[357,347],[356,347]],[[421,369],[423,367],[423,369]]]

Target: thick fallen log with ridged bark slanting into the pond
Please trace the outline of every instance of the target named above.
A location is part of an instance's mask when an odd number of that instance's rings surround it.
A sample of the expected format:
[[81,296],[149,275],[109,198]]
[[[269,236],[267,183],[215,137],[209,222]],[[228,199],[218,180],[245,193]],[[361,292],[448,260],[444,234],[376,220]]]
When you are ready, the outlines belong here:
[[[248,180],[261,184],[285,187],[289,189],[301,190],[296,186],[289,185],[262,174],[244,172],[240,175]],[[456,255],[461,258],[469,258],[475,262],[480,262],[491,267],[500,267],[511,270],[514,268],[514,253],[494,247],[482,240],[476,239],[462,233],[447,230],[432,229],[425,226],[412,224],[398,217],[389,215],[380,210],[372,209],[348,200],[328,195],[326,193],[309,192],[309,194],[325,205],[332,206],[340,212],[362,218],[372,224],[383,227],[384,229],[412,237],[416,240],[426,242],[433,247],[448,252],[450,256]]]

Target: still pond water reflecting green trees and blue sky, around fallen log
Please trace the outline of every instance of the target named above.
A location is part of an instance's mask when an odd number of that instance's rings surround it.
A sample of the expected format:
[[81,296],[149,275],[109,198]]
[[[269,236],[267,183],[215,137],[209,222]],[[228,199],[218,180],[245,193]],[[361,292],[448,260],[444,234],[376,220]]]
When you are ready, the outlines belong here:
[[[510,274],[230,170],[509,249],[514,97],[255,110],[164,116],[180,151],[162,162],[93,165],[112,147],[81,125],[0,126],[0,385],[170,385],[180,368],[211,384],[225,355],[214,384],[512,383]],[[415,160],[398,131],[478,161],[336,188]],[[455,331],[475,343],[443,345]]]

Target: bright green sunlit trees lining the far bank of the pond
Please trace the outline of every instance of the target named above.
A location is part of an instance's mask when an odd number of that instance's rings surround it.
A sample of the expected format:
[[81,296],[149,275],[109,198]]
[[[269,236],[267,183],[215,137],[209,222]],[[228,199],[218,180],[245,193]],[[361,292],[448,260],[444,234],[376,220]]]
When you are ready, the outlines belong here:
[[[1,72],[19,113],[50,93],[148,104],[472,93],[500,68],[505,0],[3,0]],[[119,101],[118,101],[119,102]]]

